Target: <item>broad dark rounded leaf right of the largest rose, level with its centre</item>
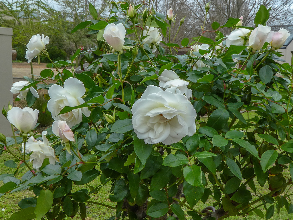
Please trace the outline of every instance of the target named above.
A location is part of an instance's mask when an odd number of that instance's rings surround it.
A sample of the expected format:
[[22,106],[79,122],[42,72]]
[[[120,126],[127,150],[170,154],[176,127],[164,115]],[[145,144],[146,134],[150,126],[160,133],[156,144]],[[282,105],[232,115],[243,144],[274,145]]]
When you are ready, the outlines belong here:
[[226,109],[216,109],[207,120],[207,126],[220,130],[224,128],[229,120],[229,112]]

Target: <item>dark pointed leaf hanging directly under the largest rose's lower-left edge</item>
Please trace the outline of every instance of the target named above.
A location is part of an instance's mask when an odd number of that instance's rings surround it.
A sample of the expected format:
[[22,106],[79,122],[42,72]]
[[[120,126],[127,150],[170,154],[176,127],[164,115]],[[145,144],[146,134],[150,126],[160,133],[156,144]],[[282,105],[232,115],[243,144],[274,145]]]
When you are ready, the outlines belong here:
[[134,147],[134,152],[138,156],[139,160],[142,162],[142,165],[145,165],[145,163],[147,162],[147,159],[149,158],[149,155],[151,155],[151,150],[153,149],[153,145],[144,143],[144,140],[141,140],[136,135],[134,135],[133,147]]

